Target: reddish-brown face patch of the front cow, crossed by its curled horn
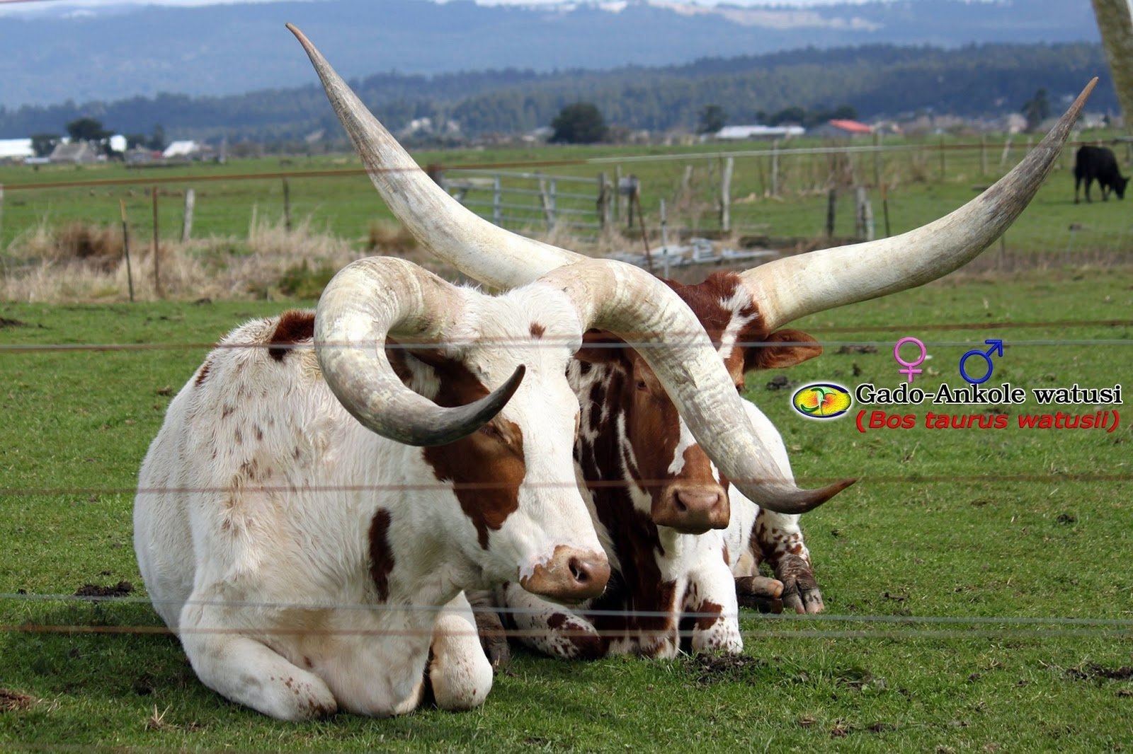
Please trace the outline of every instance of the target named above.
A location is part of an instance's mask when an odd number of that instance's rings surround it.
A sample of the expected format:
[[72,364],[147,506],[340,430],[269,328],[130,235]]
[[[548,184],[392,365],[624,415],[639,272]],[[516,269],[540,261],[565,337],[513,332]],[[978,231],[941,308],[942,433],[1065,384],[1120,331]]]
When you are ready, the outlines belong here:
[[[395,351],[391,349],[386,353]],[[433,351],[414,351],[412,357],[429,363],[436,372],[441,389],[433,402],[437,405],[466,405],[488,394],[487,387],[459,361]],[[391,363],[406,379],[404,357],[398,354]],[[527,475],[523,432],[519,425],[496,417],[455,443],[423,448],[421,455],[438,481],[453,485],[460,508],[476,526],[480,547],[487,549],[488,532],[499,531],[508,516],[519,508],[519,486]]]

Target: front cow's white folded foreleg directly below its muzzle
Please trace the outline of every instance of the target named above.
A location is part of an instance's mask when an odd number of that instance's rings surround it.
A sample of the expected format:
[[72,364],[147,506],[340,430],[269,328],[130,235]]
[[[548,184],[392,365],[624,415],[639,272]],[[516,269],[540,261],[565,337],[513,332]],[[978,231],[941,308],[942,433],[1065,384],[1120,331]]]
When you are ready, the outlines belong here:
[[436,705],[470,710],[483,704],[492,691],[492,663],[484,656],[476,616],[462,592],[437,616],[432,650],[428,677]]

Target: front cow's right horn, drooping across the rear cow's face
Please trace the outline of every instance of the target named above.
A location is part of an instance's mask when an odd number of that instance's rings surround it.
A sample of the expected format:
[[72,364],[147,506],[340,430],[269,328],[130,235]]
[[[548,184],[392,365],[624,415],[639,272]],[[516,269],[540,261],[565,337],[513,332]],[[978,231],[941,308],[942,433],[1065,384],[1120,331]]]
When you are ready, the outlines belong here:
[[658,279],[631,265],[591,259],[555,269],[543,282],[573,301],[583,331],[598,327],[633,343],[704,451],[759,505],[806,513],[854,482],[804,490],[783,479],[700,322]]

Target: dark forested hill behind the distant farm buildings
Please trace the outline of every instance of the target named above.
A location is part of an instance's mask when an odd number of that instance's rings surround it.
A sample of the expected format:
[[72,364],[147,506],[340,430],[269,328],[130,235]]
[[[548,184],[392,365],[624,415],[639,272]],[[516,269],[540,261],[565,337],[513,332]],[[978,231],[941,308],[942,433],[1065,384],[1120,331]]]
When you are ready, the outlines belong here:
[[[1100,45],[982,44],[960,49],[864,45],[763,55],[706,58],[684,66],[538,74],[520,70],[356,79],[363,101],[393,130],[411,119],[454,120],[466,136],[516,134],[550,123],[564,105],[594,102],[607,122],[627,128],[695,128],[701,109],[719,104],[729,122],[790,106],[850,104],[859,117],[931,111],[957,115],[1017,112],[1039,88],[1053,105],[1101,78],[1088,109],[1117,112]],[[0,138],[63,132],[76,118],[97,118],[111,130],[170,138],[296,139],[339,126],[316,85],[245,95],[161,94],[117,102],[0,109]]]

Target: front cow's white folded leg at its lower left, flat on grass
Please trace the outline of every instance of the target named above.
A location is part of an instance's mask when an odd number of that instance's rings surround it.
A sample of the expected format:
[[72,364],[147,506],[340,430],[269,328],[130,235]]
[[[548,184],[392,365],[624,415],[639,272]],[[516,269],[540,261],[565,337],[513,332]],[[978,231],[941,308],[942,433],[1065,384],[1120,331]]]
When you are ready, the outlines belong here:
[[267,645],[223,628],[181,624],[194,672],[222,696],[280,720],[308,720],[338,710],[322,678]]

